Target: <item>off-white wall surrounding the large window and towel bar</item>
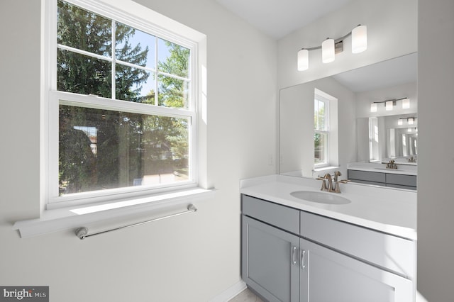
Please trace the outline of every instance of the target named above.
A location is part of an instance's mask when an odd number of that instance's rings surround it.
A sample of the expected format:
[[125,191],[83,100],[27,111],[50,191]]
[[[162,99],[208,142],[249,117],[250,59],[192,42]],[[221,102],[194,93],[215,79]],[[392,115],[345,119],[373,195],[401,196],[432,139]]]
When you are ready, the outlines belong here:
[[208,175],[195,214],[81,241],[28,239],[39,213],[40,1],[0,1],[0,285],[48,285],[50,301],[208,301],[240,280],[238,181],[275,173],[277,43],[209,0],[143,0],[207,38]]

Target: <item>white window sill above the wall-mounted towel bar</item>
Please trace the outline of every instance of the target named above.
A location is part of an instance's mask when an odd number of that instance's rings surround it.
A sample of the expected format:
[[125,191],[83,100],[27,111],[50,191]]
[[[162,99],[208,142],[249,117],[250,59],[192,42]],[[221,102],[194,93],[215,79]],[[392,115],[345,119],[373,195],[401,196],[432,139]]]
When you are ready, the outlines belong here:
[[[44,211],[40,218],[17,221],[13,230],[21,238],[44,235],[62,230],[79,228],[92,223],[111,223],[112,220],[137,219],[140,214],[155,216],[162,211],[172,211],[177,206],[187,205],[202,198],[214,196],[214,189],[187,189],[167,194],[135,198],[126,201],[100,203]],[[173,210],[175,211],[175,210]]]

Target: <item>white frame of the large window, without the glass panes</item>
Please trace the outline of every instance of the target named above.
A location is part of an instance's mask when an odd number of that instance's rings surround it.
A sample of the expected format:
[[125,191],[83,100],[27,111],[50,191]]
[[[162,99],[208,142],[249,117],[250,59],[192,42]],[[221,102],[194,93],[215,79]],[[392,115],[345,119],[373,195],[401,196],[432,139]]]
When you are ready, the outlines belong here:
[[[44,189],[45,208],[60,208],[63,206],[73,206],[84,203],[99,203],[103,201],[124,200],[126,198],[141,197],[150,194],[159,194],[161,192],[175,191],[177,189],[189,189],[198,185],[198,163],[197,163],[197,123],[198,120],[198,83],[197,74],[197,58],[198,49],[197,43],[193,40],[182,37],[172,33],[170,30],[165,30],[160,26],[154,25],[140,16],[131,15],[121,9],[108,4],[108,2],[99,0],[67,0],[70,4],[87,9],[94,13],[98,13],[106,18],[114,19],[115,21],[124,23],[138,30],[155,35],[164,40],[172,43],[182,45],[191,50],[191,62],[189,74],[191,81],[190,95],[189,95],[189,108],[164,108],[159,106],[150,106],[146,104],[137,104],[127,101],[114,101],[96,96],[83,96],[79,94],[72,94],[68,92],[57,91],[57,0],[43,1],[45,4],[46,21],[43,23],[45,38],[42,50],[45,54],[43,77],[42,77],[42,116],[48,123],[43,123],[43,131],[41,133],[41,141],[44,143],[44,152],[42,155],[43,169],[42,179],[45,184],[42,186]],[[118,1],[113,1],[118,2]],[[109,2],[110,3],[110,2]],[[60,102],[60,100],[65,100]],[[135,186],[118,189],[109,189],[106,191],[91,191],[72,196],[58,196],[58,105],[59,104],[79,104],[81,106],[90,108],[103,108],[113,109],[118,111],[126,111],[132,113],[143,114],[156,114],[159,116],[172,116],[172,117],[188,117],[191,121],[191,128],[189,133],[189,167],[191,176],[189,181],[182,181],[167,186],[146,187]]]

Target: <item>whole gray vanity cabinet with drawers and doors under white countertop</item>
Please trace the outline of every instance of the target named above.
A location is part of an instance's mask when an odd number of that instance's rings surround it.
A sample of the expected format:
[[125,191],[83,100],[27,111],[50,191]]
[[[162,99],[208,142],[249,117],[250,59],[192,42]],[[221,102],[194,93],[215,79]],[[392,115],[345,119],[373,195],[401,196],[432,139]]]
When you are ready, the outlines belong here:
[[243,281],[267,301],[414,301],[416,244],[242,195]]

